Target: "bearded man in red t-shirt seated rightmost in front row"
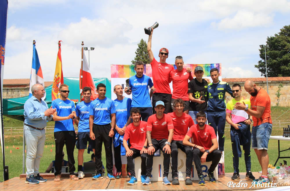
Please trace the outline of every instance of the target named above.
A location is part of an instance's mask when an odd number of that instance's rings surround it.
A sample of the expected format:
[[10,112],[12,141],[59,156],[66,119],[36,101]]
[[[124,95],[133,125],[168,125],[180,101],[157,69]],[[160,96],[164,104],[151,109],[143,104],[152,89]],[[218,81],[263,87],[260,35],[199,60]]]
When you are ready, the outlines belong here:
[[[213,171],[217,167],[220,157],[222,156],[221,152],[218,150],[218,141],[213,128],[205,124],[205,116],[203,111],[196,114],[196,121],[198,124],[192,125],[183,139],[184,145],[193,147],[193,160],[199,177],[198,185],[205,185],[201,163],[212,161],[206,173],[209,176],[209,181],[215,182]],[[191,138],[193,143],[189,142]]]

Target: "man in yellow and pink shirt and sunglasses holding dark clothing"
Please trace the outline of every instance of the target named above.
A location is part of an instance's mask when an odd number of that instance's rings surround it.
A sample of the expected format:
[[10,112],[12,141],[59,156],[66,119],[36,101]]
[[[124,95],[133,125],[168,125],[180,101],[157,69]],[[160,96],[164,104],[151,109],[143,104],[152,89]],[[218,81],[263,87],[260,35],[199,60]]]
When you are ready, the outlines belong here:
[[[230,100],[226,104],[226,121],[231,125],[231,142],[233,150],[233,167],[234,173],[231,177],[232,180],[240,179],[239,174],[239,157],[242,157],[242,150],[240,145],[243,145],[244,159],[246,164],[246,179],[255,179],[251,172],[251,130],[250,125],[252,119],[249,118],[249,114],[242,110],[237,110],[233,106],[235,103],[245,103],[247,107],[251,107],[249,99],[243,99],[241,96],[242,88],[239,84],[235,83],[232,86],[234,99]],[[237,136],[241,139],[237,139]]]

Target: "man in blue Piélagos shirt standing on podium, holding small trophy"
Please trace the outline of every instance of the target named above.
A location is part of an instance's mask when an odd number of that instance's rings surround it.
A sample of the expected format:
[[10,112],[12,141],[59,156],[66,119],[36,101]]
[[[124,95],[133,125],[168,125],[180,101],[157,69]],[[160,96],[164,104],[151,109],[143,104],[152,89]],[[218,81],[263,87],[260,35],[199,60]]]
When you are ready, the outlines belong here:
[[136,75],[129,78],[129,88],[131,91],[124,90],[126,94],[132,93],[132,108],[137,108],[141,112],[142,121],[147,121],[148,117],[152,115],[152,105],[150,101],[149,88],[153,87],[152,80],[149,76],[143,75],[144,63],[142,61],[136,61],[134,70]]

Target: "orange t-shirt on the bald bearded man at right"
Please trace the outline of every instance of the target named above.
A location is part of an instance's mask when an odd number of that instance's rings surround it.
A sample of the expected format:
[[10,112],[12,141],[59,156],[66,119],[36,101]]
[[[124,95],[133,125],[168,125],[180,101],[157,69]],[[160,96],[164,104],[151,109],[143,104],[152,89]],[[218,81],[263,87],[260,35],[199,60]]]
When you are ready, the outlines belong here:
[[262,114],[262,117],[258,119],[253,116],[253,126],[261,125],[262,123],[271,123],[271,99],[267,92],[262,88],[259,90],[258,94],[250,98],[251,101],[251,109],[257,111],[257,106],[265,107],[265,110]]

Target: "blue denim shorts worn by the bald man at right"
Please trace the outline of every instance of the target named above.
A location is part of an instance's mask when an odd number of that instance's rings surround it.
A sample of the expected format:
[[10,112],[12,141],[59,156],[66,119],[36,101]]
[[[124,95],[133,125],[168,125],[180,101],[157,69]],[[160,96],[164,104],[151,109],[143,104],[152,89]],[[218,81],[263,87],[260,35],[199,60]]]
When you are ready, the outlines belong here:
[[268,150],[268,143],[272,132],[271,123],[262,123],[252,127],[252,149]]

